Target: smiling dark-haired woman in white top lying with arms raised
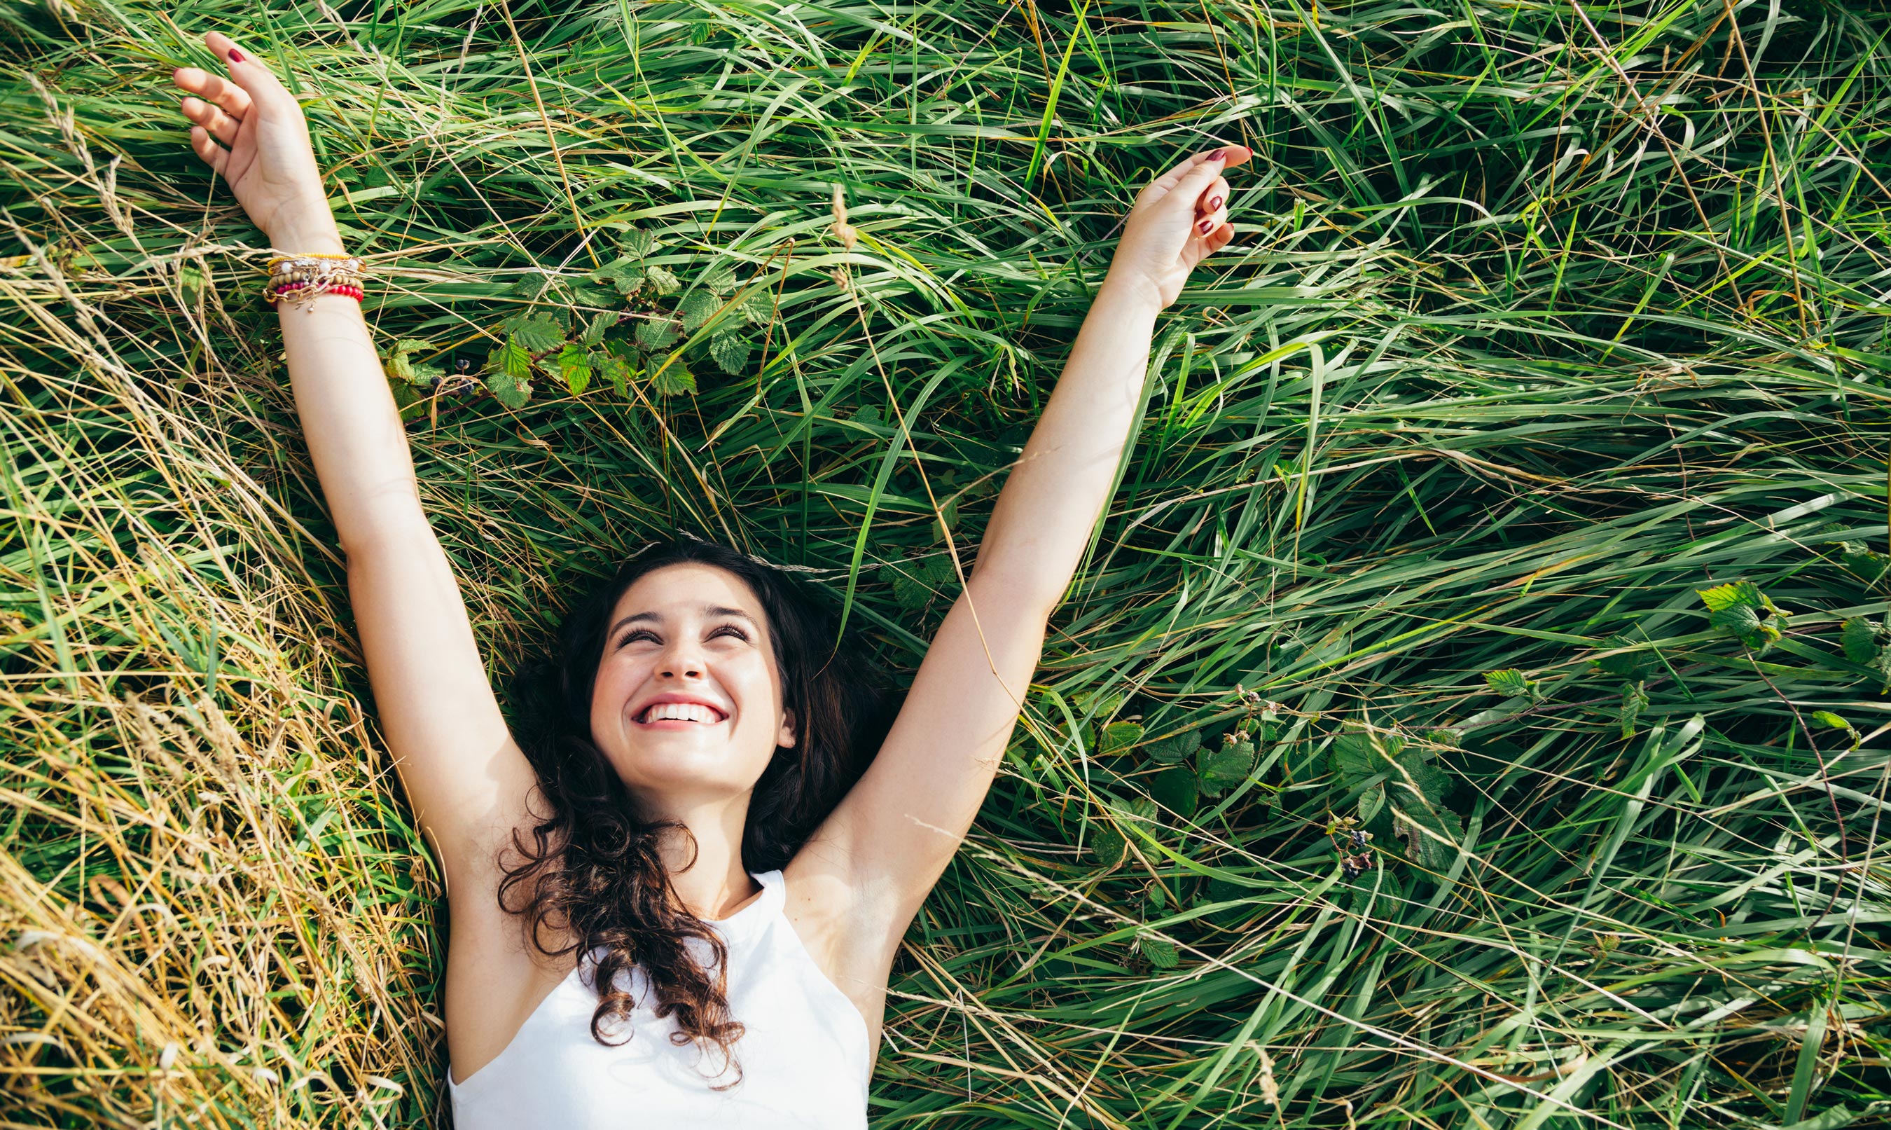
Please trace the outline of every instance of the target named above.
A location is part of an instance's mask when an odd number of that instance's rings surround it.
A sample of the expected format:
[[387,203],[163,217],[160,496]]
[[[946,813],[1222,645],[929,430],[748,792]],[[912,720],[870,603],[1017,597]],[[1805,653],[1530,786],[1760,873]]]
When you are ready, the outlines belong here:
[[231,78],[176,72],[191,146],[289,257],[295,407],[382,729],[446,873],[460,1128],[864,1126],[900,935],[991,786],[1155,316],[1233,238],[1222,172],[1250,153],[1197,153],[1136,197],[891,731],[860,649],[836,649],[790,575],[673,541],[567,615],[554,738],[522,750],[422,513],[301,108],[229,38],[204,42]]

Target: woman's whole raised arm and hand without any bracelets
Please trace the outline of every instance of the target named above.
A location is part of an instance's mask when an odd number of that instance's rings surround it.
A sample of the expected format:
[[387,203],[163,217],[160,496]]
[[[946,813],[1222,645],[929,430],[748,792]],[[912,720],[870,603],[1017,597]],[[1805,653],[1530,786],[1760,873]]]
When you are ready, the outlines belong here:
[[1197,153],[1136,197],[906,706],[872,767],[789,865],[790,890],[847,909],[847,948],[864,945],[891,963],[972,827],[1044,653],[1050,615],[1108,502],[1155,316],[1195,263],[1235,237],[1222,172],[1248,155],[1240,146]]

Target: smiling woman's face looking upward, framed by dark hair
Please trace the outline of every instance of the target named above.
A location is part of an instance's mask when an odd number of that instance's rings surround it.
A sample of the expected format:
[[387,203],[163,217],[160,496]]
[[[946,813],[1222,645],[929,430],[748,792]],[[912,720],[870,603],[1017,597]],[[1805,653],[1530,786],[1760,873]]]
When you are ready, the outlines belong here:
[[656,812],[747,793],[794,744],[768,615],[747,581],[703,564],[641,577],[611,609],[592,740]]

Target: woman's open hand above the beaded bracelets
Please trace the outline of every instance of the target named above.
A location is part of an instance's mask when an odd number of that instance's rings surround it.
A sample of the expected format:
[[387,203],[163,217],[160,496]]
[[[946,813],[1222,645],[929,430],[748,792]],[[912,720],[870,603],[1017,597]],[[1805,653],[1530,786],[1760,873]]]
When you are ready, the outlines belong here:
[[229,36],[210,32],[204,45],[223,59],[231,78],[195,66],[172,72],[172,81],[195,95],[180,104],[195,123],[191,148],[223,174],[236,203],[278,250],[340,254],[303,106]]

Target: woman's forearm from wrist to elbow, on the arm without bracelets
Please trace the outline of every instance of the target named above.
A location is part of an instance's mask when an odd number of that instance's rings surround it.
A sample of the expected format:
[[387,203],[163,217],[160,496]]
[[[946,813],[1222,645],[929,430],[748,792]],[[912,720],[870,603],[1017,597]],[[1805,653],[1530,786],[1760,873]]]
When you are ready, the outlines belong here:
[[[1014,596],[1055,602],[1110,496],[1142,399],[1161,301],[1106,278],[1078,329],[1063,377],[980,545],[978,574]],[[1023,589],[1019,592],[1019,589]]]

